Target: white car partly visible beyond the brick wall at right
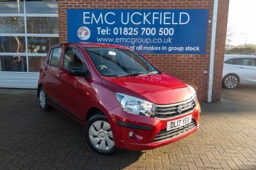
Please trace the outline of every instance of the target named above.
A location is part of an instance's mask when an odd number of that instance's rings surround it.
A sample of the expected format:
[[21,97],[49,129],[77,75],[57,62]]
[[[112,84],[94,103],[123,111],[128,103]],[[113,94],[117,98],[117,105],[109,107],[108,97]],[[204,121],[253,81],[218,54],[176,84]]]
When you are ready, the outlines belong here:
[[256,85],[256,55],[225,55],[222,83],[227,89]]

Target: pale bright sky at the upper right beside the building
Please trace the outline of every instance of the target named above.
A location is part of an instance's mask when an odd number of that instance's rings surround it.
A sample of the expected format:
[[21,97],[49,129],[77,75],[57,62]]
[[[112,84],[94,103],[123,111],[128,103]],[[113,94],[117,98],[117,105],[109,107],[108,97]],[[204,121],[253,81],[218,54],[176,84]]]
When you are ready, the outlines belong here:
[[244,45],[246,35],[246,44],[256,45],[256,0],[230,0],[228,27],[234,32],[230,45]]

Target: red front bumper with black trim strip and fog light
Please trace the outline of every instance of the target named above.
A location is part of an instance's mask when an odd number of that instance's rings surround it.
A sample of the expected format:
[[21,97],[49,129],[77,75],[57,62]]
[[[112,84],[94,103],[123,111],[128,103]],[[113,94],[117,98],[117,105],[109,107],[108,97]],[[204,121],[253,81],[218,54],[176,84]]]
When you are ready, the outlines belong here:
[[[111,128],[116,146],[127,150],[150,150],[168,145],[195,132],[199,126],[200,104],[198,103],[196,108],[189,113],[165,120],[125,113],[120,107],[109,111],[109,114],[112,119]],[[195,127],[173,138],[154,142],[157,134],[166,129],[167,122],[187,117],[188,115],[192,115],[192,120],[195,120]],[[129,132],[131,131],[134,135],[129,137]]]

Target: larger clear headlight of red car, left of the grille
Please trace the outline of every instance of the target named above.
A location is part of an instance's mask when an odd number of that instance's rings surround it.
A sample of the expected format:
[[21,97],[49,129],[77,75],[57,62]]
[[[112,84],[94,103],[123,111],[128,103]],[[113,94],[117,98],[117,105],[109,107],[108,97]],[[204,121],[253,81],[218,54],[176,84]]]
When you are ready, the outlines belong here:
[[156,105],[154,103],[122,93],[116,93],[116,99],[127,113],[145,117],[154,117],[155,115]]

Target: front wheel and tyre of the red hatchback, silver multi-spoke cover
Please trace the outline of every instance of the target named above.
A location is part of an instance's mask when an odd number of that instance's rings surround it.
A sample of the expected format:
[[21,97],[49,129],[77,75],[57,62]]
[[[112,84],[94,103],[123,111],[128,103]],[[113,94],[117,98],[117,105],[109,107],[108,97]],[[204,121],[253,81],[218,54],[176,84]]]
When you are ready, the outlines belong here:
[[103,113],[93,115],[84,127],[88,145],[96,152],[109,155],[118,149],[115,146],[113,134],[108,119]]

